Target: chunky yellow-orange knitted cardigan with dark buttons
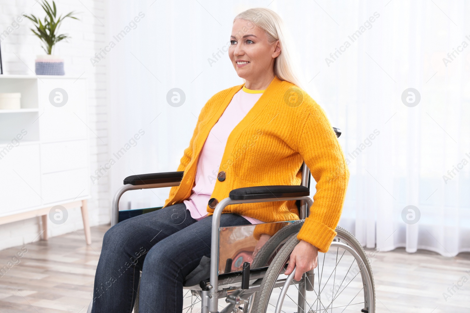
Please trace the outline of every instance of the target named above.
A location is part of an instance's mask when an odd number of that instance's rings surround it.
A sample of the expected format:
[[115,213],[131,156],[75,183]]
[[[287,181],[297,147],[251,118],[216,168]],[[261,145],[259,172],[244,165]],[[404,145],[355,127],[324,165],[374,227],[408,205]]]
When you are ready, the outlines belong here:
[[[179,186],[172,187],[164,207],[183,202],[191,195],[199,153],[212,126],[242,89],[237,85],[216,93],[199,114],[178,171]],[[217,134],[215,134],[217,135]],[[338,139],[323,109],[303,90],[274,77],[255,105],[227,139],[211,197],[219,202],[231,190],[250,186],[300,185],[302,162],[310,168],[316,193],[310,215],[297,238],[327,252],[336,236],[349,181],[349,169]],[[207,206],[212,215],[214,209]],[[295,200],[233,204],[222,213],[246,215],[264,222],[298,220]]]

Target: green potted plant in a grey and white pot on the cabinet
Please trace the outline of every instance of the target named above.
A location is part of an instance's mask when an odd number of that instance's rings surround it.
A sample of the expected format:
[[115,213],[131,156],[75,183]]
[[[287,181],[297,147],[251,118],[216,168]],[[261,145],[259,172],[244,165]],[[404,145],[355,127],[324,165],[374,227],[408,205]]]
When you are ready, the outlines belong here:
[[41,21],[34,15],[26,15],[34,23],[34,28],[31,31],[39,39],[41,39],[43,46],[42,48],[46,51],[46,55],[38,55],[36,57],[36,74],[37,75],[64,75],[63,71],[63,59],[52,54],[52,48],[56,43],[63,39],[70,38],[67,34],[57,34],[59,26],[67,17],[78,20],[77,17],[73,16],[75,13],[72,11],[64,16],[57,15],[57,8],[55,2],[52,1],[52,6],[47,0],[42,0],[41,7],[46,12],[44,22]]

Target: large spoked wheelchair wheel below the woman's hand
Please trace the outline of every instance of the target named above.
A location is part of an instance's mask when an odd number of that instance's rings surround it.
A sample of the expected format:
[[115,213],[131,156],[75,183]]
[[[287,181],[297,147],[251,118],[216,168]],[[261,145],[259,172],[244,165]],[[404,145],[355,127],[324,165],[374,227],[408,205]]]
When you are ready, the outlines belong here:
[[252,312],[375,313],[374,278],[366,252],[346,229],[336,231],[329,251],[318,253],[317,268],[302,275],[300,282],[287,284],[286,264],[299,243],[297,234],[292,236],[269,266]]

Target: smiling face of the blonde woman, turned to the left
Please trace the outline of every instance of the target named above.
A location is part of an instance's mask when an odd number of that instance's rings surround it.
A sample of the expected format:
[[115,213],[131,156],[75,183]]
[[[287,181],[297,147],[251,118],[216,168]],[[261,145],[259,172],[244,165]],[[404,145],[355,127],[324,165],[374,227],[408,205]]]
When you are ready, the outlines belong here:
[[274,77],[274,59],[281,53],[279,40],[270,45],[261,28],[236,19],[230,43],[228,55],[238,76],[247,81],[256,81],[266,75]]

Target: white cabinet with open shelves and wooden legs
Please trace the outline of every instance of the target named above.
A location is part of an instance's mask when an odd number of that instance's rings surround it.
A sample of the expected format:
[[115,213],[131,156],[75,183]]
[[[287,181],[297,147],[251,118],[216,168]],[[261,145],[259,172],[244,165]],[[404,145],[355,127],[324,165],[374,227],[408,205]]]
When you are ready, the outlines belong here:
[[0,224],[42,216],[47,240],[49,210],[80,206],[91,243],[86,91],[80,77],[0,75],[0,92],[21,93],[21,109],[0,109]]

